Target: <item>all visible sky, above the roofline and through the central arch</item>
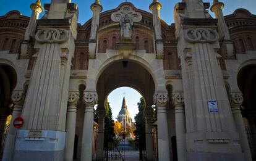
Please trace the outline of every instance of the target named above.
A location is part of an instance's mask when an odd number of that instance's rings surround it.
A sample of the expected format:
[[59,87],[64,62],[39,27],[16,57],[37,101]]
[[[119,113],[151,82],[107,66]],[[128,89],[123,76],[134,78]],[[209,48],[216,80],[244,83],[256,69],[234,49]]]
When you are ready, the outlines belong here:
[[[23,15],[30,16],[30,4],[36,0],[0,0],[0,15],[4,15],[10,10],[19,10]],[[72,2],[78,4],[79,6],[79,23],[85,23],[92,17],[92,11],[90,10],[90,4],[95,0],[74,0]],[[181,0],[159,0],[163,5],[161,9],[161,19],[163,19],[169,25],[174,22],[173,9],[174,5]],[[212,4],[213,0],[205,0],[204,2],[210,2]],[[221,1],[221,0],[220,0]],[[50,0],[41,0],[42,4],[49,3]],[[100,0],[103,11],[109,9],[115,9],[121,2],[125,0]],[[152,0],[128,0],[132,2],[135,7],[142,10],[147,10],[148,6],[151,4]],[[226,0],[222,1],[225,4],[223,9],[224,15],[232,14],[237,8],[248,9],[252,14],[256,14],[256,1],[255,0]],[[210,12],[211,13],[211,12]],[[41,14],[40,16],[42,16]],[[214,17],[214,15],[211,13]],[[118,88],[109,94],[108,101],[113,109],[113,117],[116,118],[119,110],[121,110],[122,97],[126,93],[127,106],[132,119],[139,112],[137,109],[137,102],[140,100],[140,94],[132,88]]]

